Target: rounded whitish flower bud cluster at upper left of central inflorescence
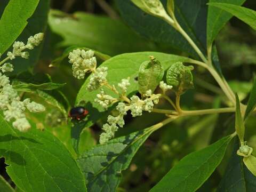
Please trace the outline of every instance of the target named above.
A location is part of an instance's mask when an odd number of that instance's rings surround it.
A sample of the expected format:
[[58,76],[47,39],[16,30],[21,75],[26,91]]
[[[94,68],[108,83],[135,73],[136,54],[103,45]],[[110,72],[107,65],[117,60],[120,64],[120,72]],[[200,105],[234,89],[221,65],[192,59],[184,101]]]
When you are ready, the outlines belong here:
[[83,79],[87,71],[95,71],[97,60],[93,57],[92,50],[85,51],[76,49],[69,53],[69,62],[72,63],[73,75],[78,79]]

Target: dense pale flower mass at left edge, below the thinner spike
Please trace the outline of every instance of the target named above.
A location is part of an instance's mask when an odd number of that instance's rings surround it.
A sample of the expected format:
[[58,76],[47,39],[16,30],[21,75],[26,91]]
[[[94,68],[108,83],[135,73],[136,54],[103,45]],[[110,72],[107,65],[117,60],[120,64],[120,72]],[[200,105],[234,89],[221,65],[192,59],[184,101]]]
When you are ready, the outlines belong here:
[[27,108],[31,112],[41,112],[45,107],[36,102],[30,102],[30,99],[20,101],[16,90],[10,85],[9,77],[0,74],[0,110],[3,110],[6,121],[15,119],[12,125],[19,131],[27,131],[30,124],[24,114]]

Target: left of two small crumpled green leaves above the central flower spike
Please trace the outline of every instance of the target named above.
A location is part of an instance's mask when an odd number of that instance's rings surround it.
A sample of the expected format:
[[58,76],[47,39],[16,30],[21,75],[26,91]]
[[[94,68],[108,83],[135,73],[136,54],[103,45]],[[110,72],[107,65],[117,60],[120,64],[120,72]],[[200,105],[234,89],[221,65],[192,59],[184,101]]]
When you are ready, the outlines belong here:
[[150,56],[150,61],[145,61],[139,69],[139,92],[144,95],[146,91],[155,91],[159,82],[164,76],[164,68],[162,64],[153,56]]

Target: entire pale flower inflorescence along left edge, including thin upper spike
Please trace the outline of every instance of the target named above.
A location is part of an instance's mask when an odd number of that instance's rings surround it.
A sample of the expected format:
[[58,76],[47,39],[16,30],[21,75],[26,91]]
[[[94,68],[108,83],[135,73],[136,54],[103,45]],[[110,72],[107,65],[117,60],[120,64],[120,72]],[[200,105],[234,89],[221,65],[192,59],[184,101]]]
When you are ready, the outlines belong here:
[[[14,42],[13,51],[7,52],[7,58],[0,62],[2,73],[13,71],[13,65],[11,63],[4,63],[5,61],[13,60],[19,56],[28,59],[29,53],[23,50],[34,49],[42,40],[43,33],[38,33],[30,36],[26,45],[23,42]],[[30,102],[29,98],[21,101],[18,92],[10,84],[9,77],[2,73],[0,73],[0,110],[3,111],[6,121],[14,120],[12,125],[15,129],[22,132],[27,131],[31,126],[25,116],[25,110],[28,109],[30,112],[38,113],[44,111],[45,107],[34,101]]]

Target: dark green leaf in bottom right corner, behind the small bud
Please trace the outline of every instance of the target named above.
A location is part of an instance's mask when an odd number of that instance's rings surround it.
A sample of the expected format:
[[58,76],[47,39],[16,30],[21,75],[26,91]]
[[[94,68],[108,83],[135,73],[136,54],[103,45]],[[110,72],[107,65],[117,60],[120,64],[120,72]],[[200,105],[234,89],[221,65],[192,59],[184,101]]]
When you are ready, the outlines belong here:
[[243,157],[236,154],[237,149],[239,149],[238,139],[234,142],[233,154],[218,187],[218,192],[256,191],[256,177],[244,165]]

